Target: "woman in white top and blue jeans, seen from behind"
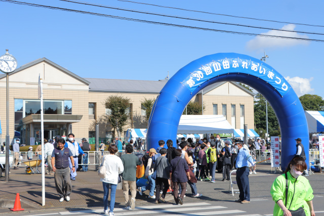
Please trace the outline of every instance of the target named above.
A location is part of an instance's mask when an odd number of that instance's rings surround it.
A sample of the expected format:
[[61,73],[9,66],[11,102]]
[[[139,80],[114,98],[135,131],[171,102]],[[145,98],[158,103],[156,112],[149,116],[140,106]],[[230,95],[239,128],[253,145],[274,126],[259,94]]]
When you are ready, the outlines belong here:
[[[109,216],[113,216],[113,208],[115,205],[115,196],[116,189],[118,184],[118,175],[123,173],[124,166],[120,158],[115,156],[115,153],[118,152],[116,145],[112,144],[108,148],[109,155],[105,155],[102,158],[101,165],[104,164],[106,168],[105,178],[100,178],[103,186],[103,205],[104,205],[104,214],[108,214],[108,196],[109,196],[109,186],[110,186],[110,210]],[[106,159],[106,160],[105,160]]]

